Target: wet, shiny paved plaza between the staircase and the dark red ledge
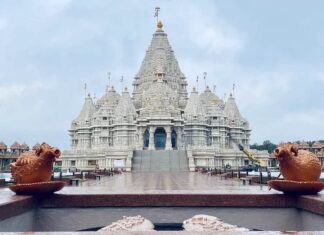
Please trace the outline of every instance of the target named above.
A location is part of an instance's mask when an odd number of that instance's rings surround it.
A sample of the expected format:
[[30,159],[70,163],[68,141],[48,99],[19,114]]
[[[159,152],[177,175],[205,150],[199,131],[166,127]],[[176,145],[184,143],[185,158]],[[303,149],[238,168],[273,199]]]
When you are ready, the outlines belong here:
[[220,179],[197,172],[141,172],[123,173],[88,180],[80,186],[65,187],[64,194],[134,194],[134,193],[186,193],[186,194],[272,194],[266,185],[243,185],[238,179]]

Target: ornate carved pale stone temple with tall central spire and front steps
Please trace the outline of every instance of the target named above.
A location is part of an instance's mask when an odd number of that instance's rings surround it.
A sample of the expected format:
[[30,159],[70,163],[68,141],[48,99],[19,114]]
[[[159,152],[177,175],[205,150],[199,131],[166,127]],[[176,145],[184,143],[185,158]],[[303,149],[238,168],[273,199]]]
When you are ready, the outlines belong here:
[[[237,144],[249,148],[251,129],[234,94],[222,100],[208,86],[188,94],[161,21],[133,86],[121,94],[107,86],[96,102],[85,98],[71,123],[71,149],[59,162],[63,169],[193,171],[248,164]],[[253,153],[267,165],[266,152]]]

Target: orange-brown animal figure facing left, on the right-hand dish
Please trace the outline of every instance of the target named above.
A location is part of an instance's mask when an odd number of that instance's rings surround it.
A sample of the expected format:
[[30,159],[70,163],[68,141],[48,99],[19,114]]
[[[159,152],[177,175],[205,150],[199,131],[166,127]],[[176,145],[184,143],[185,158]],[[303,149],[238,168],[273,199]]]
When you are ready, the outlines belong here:
[[279,161],[279,170],[285,180],[318,181],[321,175],[321,163],[318,157],[309,151],[297,149],[286,144],[274,150]]

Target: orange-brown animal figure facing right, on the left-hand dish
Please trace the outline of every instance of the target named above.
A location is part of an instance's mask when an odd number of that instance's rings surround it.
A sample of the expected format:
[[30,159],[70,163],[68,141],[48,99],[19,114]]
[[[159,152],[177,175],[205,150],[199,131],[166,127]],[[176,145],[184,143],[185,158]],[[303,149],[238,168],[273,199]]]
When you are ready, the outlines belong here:
[[12,177],[17,184],[47,182],[52,175],[53,163],[60,155],[59,149],[43,143],[36,150],[21,154],[15,163],[10,164]]

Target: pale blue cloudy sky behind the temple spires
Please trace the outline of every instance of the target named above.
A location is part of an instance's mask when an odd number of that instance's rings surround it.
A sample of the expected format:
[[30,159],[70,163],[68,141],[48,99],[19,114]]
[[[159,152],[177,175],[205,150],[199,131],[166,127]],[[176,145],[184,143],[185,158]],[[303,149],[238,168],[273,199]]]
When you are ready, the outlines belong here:
[[1,0],[0,141],[68,149],[85,82],[131,88],[156,6],[188,91],[235,83],[251,143],[324,139],[323,1]]

